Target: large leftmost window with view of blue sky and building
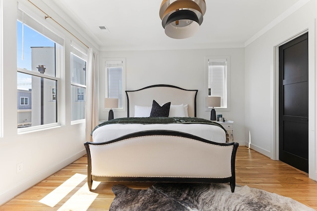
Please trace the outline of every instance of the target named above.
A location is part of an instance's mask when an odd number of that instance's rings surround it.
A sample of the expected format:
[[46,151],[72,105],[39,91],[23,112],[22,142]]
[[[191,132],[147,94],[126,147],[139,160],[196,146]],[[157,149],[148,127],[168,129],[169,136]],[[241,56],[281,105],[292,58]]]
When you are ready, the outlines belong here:
[[[63,40],[18,9],[17,121],[18,127],[24,126],[19,132],[60,125],[57,90],[61,87],[62,57]],[[25,120],[29,128],[25,128]]]

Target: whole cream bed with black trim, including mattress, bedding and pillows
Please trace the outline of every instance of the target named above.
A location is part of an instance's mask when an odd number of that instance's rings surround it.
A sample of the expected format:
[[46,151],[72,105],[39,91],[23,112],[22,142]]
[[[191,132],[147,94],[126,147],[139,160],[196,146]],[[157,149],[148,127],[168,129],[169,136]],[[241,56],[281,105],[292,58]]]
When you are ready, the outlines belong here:
[[102,123],[85,143],[89,189],[93,180],[229,182],[233,192],[239,144],[226,143],[221,125],[196,117],[197,92],[162,84],[126,91],[127,118]]

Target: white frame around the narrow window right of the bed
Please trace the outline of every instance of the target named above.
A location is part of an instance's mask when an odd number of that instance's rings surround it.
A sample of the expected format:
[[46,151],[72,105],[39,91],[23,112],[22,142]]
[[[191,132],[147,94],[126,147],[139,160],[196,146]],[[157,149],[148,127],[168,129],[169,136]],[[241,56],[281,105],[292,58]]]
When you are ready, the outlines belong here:
[[[209,61],[210,60],[226,60],[226,91],[227,91],[227,107],[217,107],[218,111],[230,111],[230,56],[205,56],[205,97],[209,96]],[[205,106],[205,111],[211,111],[211,107]]]

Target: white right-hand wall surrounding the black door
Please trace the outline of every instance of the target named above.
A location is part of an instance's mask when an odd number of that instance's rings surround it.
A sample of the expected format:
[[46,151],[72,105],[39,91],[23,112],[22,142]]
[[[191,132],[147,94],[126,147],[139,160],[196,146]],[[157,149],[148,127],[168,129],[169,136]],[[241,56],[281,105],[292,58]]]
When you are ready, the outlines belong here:
[[[309,175],[317,180],[316,150],[316,18],[317,0],[296,12],[245,47],[245,137],[251,148],[278,159],[276,137],[277,71],[274,46],[309,31]],[[278,62],[278,60],[275,60]],[[276,132],[275,132],[276,131]],[[250,134],[250,136],[249,136]],[[249,141],[248,141],[249,142]]]

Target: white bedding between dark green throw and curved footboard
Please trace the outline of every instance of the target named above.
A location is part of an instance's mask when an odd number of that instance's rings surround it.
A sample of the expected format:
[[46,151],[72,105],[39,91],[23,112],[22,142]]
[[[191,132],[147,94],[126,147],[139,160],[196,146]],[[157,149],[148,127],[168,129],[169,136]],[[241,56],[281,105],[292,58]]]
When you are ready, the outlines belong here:
[[221,127],[206,124],[112,124],[98,127],[92,135],[94,142],[106,142],[133,132],[161,129],[186,132],[218,143],[226,142],[226,134]]

